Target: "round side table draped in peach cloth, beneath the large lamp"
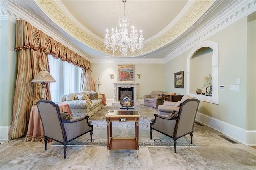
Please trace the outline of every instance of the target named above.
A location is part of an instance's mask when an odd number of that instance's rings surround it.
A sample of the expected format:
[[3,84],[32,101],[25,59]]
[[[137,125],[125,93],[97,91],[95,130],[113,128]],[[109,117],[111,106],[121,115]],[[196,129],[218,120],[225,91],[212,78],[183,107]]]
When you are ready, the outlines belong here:
[[[73,116],[68,103],[59,102],[56,104],[59,105],[60,112],[68,112],[70,115]],[[30,140],[31,142],[36,142],[38,140],[44,142],[44,128],[36,105],[33,105],[31,107],[28,122],[28,132],[25,138],[25,141]],[[48,140],[48,142],[51,142],[51,140]]]

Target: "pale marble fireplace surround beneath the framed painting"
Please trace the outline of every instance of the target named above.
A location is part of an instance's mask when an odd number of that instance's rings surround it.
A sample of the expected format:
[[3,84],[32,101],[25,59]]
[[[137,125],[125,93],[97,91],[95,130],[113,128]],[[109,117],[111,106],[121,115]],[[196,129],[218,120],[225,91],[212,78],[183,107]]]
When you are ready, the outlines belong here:
[[138,102],[138,83],[114,83],[114,102],[112,106],[119,106],[118,101],[118,87],[122,88],[130,88],[134,87],[133,89],[133,98],[134,98],[134,105],[139,106],[140,103]]

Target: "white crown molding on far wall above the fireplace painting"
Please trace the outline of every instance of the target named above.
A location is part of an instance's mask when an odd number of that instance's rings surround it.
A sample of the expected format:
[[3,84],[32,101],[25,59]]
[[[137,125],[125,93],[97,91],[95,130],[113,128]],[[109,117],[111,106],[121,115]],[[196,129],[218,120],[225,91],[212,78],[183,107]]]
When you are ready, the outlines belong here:
[[164,64],[163,59],[91,59],[91,64]]

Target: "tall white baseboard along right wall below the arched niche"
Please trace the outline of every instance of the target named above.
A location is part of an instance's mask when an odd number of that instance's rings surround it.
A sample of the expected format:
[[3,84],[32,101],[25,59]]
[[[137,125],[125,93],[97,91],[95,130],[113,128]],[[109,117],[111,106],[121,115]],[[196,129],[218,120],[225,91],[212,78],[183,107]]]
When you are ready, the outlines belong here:
[[213,117],[209,117],[200,112],[198,112],[196,115],[196,121],[208,127],[211,127],[225,134],[226,136],[229,136],[230,138],[241,142],[242,144],[250,146],[256,145],[256,130],[245,130],[243,128],[236,127]]

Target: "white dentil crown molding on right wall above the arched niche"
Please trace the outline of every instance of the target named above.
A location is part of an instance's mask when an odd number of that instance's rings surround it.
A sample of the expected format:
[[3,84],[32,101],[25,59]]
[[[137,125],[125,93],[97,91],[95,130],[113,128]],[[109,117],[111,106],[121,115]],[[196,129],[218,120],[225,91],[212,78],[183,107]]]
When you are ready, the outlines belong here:
[[218,14],[218,16],[212,17],[211,22],[204,26],[204,28],[196,30],[195,34],[192,34],[193,36],[177,45],[174,50],[164,57],[164,62],[167,63],[175,57],[178,57],[180,54],[194,47],[197,43],[206,40],[254,11],[256,11],[256,0],[236,1],[230,8]]

